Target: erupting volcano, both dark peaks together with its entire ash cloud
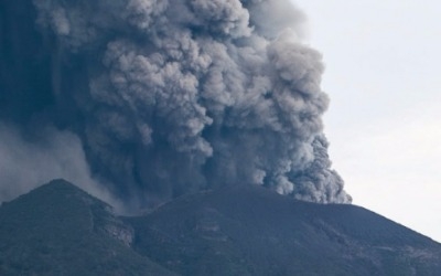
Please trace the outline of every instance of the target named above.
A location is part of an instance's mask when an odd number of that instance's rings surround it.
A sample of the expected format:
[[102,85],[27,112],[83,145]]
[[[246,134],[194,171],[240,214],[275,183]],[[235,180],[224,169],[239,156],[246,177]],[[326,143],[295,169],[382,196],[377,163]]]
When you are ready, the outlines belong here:
[[440,244],[349,204],[304,20],[0,1],[0,275],[441,275]]

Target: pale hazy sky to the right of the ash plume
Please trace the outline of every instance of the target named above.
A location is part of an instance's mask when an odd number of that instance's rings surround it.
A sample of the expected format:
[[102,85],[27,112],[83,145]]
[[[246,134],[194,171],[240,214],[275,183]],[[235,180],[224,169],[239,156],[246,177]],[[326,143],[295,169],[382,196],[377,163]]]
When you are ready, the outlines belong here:
[[441,242],[441,2],[294,3],[324,55],[325,132],[354,204]]

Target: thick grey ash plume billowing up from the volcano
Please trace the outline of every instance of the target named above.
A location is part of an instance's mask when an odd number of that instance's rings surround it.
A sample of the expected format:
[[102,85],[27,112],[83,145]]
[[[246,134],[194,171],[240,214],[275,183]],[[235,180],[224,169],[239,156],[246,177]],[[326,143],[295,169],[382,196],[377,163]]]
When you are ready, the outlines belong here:
[[321,55],[302,44],[304,15],[288,0],[33,4],[40,45],[12,83],[37,87],[4,85],[14,108],[0,115],[79,137],[94,178],[121,200],[146,208],[248,183],[351,202],[322,132]]

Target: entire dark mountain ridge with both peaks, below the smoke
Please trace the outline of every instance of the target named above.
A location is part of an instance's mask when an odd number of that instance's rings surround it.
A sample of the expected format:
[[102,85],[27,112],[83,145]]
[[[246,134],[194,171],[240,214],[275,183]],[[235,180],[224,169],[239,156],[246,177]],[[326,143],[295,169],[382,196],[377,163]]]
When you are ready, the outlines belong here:
[[63,181],[0,208],[0,275],[441,275],[441,244],[368,210],[257,185],[137,217]]

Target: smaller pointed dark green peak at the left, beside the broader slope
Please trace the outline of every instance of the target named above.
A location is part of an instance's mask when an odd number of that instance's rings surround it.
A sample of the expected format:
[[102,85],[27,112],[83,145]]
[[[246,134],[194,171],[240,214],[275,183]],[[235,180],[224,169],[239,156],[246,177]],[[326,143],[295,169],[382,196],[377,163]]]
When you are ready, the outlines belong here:
[[170,275],[130,250],[132,230],[63,180],[0,208],[0,275]]

